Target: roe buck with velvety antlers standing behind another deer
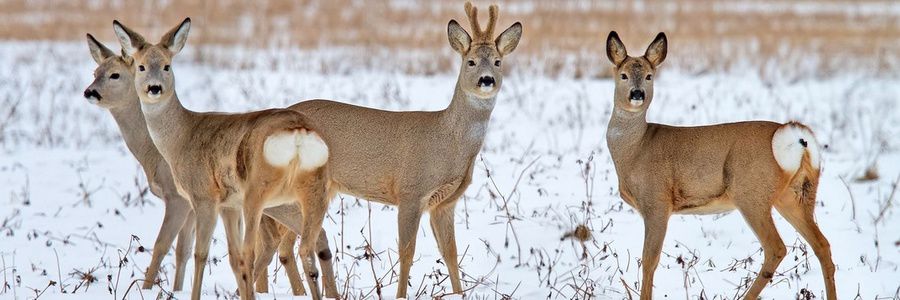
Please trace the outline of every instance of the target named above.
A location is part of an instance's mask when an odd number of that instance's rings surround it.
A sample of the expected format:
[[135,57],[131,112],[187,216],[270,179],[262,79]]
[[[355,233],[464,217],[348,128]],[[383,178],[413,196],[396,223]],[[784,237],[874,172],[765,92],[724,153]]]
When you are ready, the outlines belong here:
[[[456,20],[447,25],[450,46],[462,59],[450,105],[441,111],[393,112],[328,100],[297,103],[331,149],[329,193],[340,192],[398,206],[400,278],[397,297],[405,298],[424,211],[447,264],[454,293],[461,293],[454,207],[472,178],[503,75],[501,60],[519,43],[516,22],[493,39],[497,6],[491,5],[485,30],[476,8],[465,5],[472,33]],[[348,120],[352,120],[348,121]],[[319,203],[319,202],[317,202]],[[327,207],[304,217],[322,218]],[[304,213],[307,210],[304,210]]]

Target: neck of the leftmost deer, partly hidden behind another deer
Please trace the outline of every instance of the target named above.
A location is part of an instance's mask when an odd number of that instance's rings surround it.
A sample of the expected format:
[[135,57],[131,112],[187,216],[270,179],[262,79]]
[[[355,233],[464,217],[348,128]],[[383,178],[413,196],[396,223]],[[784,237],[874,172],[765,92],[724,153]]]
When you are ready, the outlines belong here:
[[140,99],[136,93],[132,93],[126,98],[128,99],[120,101],[124,104],[110,108],[109,112],[116,120],[119,132],[125,140],[125,146],[144,168],[148,179],[152,180],[153,178],[150,178],[151,171],[156,169],[161,157],[147,130],[147,122],[141,112]]

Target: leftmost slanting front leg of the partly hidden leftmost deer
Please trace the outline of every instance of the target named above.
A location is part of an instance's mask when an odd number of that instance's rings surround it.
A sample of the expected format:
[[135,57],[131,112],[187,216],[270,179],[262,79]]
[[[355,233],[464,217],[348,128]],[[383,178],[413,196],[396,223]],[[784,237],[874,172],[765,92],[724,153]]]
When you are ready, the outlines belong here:
[[184,225],[188,213],[191,211],[189,203],[180,202],[175,197],[166,197],[166,213],[163,217],[163,223],[159,227],[159,233],[156,235],[156,242],[153,243],[153,253],[150,265],[147,267],[147,274],[144,277],[143,289],[151,289],[156,284],[156,278],[159,275],[159,267],[162,260],[172,247],[178,230]]

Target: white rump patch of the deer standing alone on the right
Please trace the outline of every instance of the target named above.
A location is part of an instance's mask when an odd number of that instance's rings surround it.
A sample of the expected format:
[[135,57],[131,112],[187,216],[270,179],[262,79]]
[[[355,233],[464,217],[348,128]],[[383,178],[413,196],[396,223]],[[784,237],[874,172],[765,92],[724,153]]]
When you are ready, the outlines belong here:
[[781,169],[796,173],[800,169],[803,152],[809,153],[813,168],[819,169],[819,143],[812,131],[798,123],[782,125],[772,136],[772,153]]

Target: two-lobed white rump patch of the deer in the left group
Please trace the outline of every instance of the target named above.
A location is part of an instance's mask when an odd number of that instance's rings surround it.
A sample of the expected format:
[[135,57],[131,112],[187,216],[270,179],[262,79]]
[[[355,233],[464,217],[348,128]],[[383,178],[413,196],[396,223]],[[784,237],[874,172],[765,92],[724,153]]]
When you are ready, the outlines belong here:
[[266,138],[263,156],[266,162],[276,167],[286,167],[299,159],[298,168],[309,171],[328,161],[328,146],[314,132],[305,129],[283,131]]

